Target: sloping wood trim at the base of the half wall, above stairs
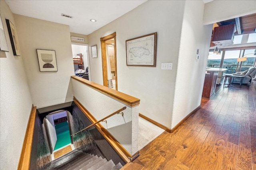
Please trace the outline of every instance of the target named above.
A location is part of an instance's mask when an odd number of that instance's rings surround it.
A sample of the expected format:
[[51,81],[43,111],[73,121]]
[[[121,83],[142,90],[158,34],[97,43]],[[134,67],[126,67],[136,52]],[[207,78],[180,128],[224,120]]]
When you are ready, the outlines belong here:
[[[74,97],[75,104],[81,109],[84,115],[92,122],[95,123],[98,120]],[[100,123],[94,125],[96,129],[102,134],[102,136],[108,141],[119,156],[126,162],[130,162],[129,157],[132,155],[102,126]]]

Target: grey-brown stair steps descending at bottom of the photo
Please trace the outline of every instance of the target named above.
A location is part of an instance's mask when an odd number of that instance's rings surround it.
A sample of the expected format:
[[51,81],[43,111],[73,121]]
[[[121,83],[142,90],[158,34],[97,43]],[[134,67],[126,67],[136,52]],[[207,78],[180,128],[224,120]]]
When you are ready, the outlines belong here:
[[67,154],[54,159],[50,164],[50,170],[119,170],[120,163],[114,164],[112,160],[84,153],[80,150],[72,150]]

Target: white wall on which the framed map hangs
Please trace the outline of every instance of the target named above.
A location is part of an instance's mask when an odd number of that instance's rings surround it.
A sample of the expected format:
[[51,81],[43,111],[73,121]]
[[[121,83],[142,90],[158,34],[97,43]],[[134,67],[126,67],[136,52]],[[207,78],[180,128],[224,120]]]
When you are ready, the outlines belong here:
[[[90,57],[91,80],[103,84],[100,37],[116,32],[118,91],[140,99],[140,113],[171,126],[171,111],[178,63],[184,1],[147,1],[131,12],[88,35],[98,46]],[[157,32],[156,67],[126,66],[126,40]],[[173,63],[173,70],[161,70]]]

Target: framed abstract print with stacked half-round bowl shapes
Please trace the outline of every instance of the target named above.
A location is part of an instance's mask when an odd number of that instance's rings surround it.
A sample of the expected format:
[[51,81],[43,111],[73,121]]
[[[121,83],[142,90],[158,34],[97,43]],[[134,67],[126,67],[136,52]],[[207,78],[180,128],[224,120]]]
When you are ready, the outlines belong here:
[[36,49],[40,71],[58,71],[54,50]]

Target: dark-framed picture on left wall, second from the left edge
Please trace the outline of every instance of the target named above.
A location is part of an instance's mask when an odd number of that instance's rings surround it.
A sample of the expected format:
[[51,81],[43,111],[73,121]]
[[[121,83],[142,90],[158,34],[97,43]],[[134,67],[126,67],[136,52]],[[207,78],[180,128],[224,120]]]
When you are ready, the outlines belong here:
[[18,39],[16,36],[17,34],[15,31],[14,25],[12,24],[12,22],[10,20],[7,20],[7,19],[6,19],[6,24],[7,24],[7,28],[8,28],[8,32],[9,32],[9,36],[10,36],[13,55],[20,56],[20,49],[19,49]]

